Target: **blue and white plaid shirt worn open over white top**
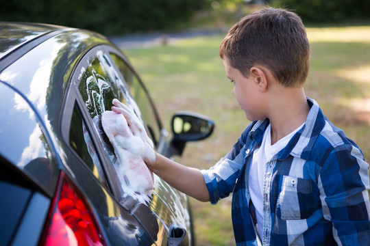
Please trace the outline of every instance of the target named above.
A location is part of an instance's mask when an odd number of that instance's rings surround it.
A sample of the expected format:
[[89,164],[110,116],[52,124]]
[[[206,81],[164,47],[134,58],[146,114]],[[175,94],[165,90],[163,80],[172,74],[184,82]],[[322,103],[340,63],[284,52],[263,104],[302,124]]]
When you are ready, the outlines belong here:
[[[308,104],[306,124],[265,166],[262,244],[370,245],[369,165],[317,102]],[[258,245],[248,171],[268,124],[252,122],[225,157],[202,170],[212,204],[233,193],[236,245]]]

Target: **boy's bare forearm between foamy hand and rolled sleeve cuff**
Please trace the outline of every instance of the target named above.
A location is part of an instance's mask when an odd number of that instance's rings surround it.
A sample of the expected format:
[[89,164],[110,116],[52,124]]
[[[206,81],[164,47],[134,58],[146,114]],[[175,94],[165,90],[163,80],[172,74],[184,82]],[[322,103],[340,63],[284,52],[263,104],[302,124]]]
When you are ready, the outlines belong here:
[[182,193],[201,202],[210,200],[206,182],[199,169],[186,167],[158,153],[156,153],[155,163],[149,164],[148,167],[154,174]]

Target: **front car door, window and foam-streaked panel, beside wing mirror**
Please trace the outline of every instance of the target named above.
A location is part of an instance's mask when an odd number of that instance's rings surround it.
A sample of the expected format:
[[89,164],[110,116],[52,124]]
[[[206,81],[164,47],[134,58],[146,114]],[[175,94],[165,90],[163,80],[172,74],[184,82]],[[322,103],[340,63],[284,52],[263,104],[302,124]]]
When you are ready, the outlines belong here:
[[[143,81],[134,70],[127,57],[115,49],[108,50],[114,65],[123,75],[126,85],[140,108],[143,120],[149,130],[151,138],[156,143],[156,151],[164,156],[171,158],[171,145],[169,144],[169,133],[162,127],[162,122],[158,116],[156,107],[151,99]],[[184,193],[173,189],[169,184],[157,178],[153,199],[150,204],[151,209],[160,221],[167,228],[169,241],[188,245],[188,242],[195,244],[190,217],[190,206]],[[174,243],[176,244],[176,243]]]

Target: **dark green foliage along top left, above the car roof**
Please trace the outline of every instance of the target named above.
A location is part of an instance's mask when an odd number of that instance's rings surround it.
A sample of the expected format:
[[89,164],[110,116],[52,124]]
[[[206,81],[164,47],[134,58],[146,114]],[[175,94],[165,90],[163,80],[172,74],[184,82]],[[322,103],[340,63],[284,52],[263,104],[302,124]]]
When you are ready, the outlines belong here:
[[79,27],[105,35],[173,29],[206,0],[13,0],[1,1],[0,20]]

